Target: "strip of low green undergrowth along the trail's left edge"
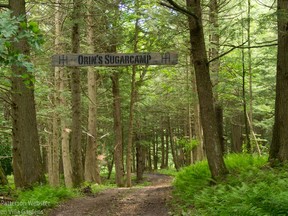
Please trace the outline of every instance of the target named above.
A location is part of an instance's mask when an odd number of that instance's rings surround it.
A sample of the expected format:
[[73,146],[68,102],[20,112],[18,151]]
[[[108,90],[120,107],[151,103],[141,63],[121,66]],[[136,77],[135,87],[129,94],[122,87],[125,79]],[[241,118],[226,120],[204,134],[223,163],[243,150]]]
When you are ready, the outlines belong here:
[[[84,182],[80,188],[53,187],[50,185],[34,186],[31,189],[15,189],[13,176],[8,177],[9,184],[0,186],[0,216],[9,215],[45,215],[47,209],[56,207],[61,202],[75,197],[85,196],[88,193],[96,194],[103,190],[116,187],[111,181],[103,184]],[[10,200],[11,199],[11,200]]]

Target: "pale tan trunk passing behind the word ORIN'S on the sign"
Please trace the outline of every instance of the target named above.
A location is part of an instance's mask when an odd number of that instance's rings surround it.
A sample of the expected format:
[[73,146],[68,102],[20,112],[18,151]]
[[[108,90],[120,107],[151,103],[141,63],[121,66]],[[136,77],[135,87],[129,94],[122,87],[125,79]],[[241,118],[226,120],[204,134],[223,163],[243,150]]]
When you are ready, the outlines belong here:
[[[89,44],[89,52],[93,53],[94,50],[94,31],[93,31],[93,0],[88,2],[88,15],[87,15],[87,42]],[[101,183],[100,172],[97,161],[97,75],[93,67],[88,67],[88,138],[85,154],[85,171],[84,178],[88,182]]]

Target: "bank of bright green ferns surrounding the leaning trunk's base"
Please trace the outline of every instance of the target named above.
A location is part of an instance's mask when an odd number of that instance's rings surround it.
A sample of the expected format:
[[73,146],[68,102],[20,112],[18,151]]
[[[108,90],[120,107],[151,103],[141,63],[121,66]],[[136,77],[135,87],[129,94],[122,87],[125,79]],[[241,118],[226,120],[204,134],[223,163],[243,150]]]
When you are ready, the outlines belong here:
[[174,180],[175,215],[288,215],[288,165],[270,168],[267,157],[232,154],[230,174],[212,186],[207,161],[182,169]]

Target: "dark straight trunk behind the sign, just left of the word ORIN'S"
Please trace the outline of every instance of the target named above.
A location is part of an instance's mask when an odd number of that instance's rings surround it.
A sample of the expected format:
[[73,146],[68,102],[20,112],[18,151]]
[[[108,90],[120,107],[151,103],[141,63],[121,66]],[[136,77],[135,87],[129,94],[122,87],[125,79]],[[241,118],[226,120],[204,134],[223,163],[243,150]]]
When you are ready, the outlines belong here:
[[[80,10],[82,1],[73,0],[72,14],[72,53],[80,51],[80,28],[79,19],[81,17]],[[71,93],[72,93],[72,169],[73,169],[73,186],[79,187],[84,179],[83,162],[82,162],[82,146],[81,146],[81,80],[80,68],[71,68]]]

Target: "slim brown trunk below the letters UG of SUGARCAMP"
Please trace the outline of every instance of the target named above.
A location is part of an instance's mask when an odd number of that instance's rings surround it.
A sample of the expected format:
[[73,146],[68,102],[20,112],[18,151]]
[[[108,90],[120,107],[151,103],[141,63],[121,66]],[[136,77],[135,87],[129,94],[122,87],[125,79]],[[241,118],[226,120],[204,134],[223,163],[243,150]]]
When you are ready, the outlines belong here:
[[123,138],[122,138],[122,119],[121,119],[121,99],[119,87],[119,74],[114,72],[111,76],[113,107],[114,107],[114,160],[116,171],[116,184],[118,187],[124,186],[124,166],[123,166]]

